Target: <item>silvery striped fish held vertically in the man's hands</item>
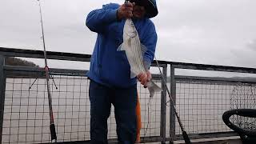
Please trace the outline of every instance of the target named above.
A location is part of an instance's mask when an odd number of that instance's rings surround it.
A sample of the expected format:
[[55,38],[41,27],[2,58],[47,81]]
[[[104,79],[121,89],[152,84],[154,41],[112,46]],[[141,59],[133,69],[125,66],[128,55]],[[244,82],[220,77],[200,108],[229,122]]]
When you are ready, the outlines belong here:
[[[143,63],[143,54],[146,53],[144,46],[138,37],[138,31],[134,26],[131,18],[127,18],[123,28],[123,42],[118,46],[118,51],[125,51],[126,58],[130,64],[130,78],[135,78],[138,74],[146,73],[146,68]],[[155,92],[162,91],[158,85],[150,80],[145,86],[150,91],[150,98],[153,98]]]

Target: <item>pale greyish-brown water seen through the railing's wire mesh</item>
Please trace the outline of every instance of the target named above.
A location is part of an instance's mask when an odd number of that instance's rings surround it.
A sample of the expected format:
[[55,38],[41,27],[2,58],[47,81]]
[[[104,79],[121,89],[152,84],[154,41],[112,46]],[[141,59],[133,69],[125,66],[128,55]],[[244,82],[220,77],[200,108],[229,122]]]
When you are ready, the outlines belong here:
[[[28,90],[33,81],[33,78],[7,78],[2,143],[50,142],[46,82],[39,78]],[[52,81],[50,86],[58,142],[89,140],[89,80],[77,76],[58,76],[54,81],[58,89],[54,88]],[[222,114],[237,105],[232,101],[235,98],[255,98],[255,89],[251,88],[234,83],[177,82],[177,110],[186,131],[189,134],[229,131],[222,122]],[[141,136],[159,136],[161,94],[154,95],[149,101],[148,90],[139,84],[138,94],[142,110]],[[169,137],[170,103],[166,105],[166,136]],[[255,106],[255,103],[250,103],[250,106]],[[117,138],[114,108],[111,110],[108,138]],[[181,134],[177,121],[175,131],[175,134]]]

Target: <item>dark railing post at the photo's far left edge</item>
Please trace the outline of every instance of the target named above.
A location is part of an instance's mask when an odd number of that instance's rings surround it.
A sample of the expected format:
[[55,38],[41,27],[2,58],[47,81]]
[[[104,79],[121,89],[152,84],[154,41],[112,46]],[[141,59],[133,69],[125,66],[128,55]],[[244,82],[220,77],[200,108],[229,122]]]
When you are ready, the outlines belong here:
[[6,75],[3,70],[5,57],[0,55],[0,143],[2,143],[3,110],[5,104]]

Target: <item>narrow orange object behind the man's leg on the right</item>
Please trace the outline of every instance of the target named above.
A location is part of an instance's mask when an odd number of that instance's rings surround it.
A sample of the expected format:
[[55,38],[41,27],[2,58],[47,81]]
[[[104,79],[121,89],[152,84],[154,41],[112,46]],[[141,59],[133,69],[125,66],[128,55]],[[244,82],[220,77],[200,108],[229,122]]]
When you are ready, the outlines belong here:
[[137,97],[137,105],[136,105],[136,115],[137,115],[137,137],[136,137],[136,143],[139,143],[139,142],[141,142],[140,131],[142,129],[142,115],[141,115],[141,106],[140,106],[139,98],[138,97]]

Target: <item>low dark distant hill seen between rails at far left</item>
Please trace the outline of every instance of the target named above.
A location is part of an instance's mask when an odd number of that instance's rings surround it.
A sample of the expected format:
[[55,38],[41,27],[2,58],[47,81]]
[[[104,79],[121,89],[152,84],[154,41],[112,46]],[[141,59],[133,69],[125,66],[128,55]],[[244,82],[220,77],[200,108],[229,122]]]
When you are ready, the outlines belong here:
[[34,64],[34,62],[29,62],[21,58],[13,58],[13,57],[6,58],[6,65],[39,67],[38,65]]

